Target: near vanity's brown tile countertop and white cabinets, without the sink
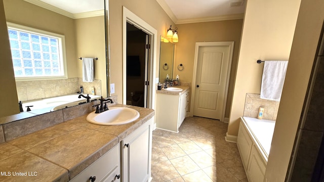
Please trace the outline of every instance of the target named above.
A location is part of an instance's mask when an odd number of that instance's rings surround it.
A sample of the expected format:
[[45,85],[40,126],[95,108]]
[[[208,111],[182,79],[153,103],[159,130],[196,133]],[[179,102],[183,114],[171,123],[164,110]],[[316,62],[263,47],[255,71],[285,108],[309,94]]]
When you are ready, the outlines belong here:
[[83,115],[1,143],[0,180],[150,181],[154,110],[115,106],[135,109],[140,117],[104,126]]

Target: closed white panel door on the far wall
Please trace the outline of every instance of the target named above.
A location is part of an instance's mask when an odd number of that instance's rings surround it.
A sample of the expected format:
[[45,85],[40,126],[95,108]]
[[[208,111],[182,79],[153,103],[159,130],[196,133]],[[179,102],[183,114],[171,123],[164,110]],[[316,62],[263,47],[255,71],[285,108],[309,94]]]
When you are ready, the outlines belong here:
[[194,116],[222,119],[231,59],[230,49],[229,45],[199,47]]

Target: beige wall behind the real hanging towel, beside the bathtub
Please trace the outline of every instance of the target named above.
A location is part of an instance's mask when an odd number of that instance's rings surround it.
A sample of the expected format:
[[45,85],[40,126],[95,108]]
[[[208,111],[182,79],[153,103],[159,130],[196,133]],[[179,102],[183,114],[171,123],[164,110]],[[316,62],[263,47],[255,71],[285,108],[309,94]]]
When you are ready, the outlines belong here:
[[260,94],[261,60],[288,60],[300,1],[248,1],[227,134],[237,135],[247,93]]

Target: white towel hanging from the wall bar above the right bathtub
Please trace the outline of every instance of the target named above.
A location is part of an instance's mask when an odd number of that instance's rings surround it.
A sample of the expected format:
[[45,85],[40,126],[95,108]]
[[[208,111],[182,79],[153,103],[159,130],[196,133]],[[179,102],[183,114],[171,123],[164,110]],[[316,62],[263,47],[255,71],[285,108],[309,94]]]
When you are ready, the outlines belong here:
[[265,61],[261,83],[261,99],[280,101],[288,61]]

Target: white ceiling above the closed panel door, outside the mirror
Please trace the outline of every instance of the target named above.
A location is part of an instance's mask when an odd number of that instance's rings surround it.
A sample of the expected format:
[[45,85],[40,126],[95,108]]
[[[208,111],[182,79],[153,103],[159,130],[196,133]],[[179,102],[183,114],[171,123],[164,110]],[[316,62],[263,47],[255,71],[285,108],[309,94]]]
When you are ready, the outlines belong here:
[[156,0],[175,24],[243,19],[245,0]]

